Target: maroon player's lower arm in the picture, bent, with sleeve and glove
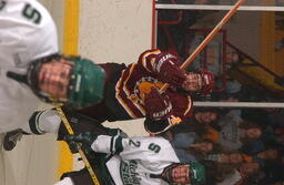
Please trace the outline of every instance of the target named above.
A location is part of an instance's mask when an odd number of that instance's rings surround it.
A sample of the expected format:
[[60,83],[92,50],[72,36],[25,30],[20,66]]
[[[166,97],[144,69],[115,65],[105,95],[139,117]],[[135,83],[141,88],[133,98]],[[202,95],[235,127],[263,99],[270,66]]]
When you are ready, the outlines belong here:
[[151,134],[163,133],[192,115],[191,97],[174,91],[160,94],[158,90],[152,89],[145,94],[144,104],[144,127]]

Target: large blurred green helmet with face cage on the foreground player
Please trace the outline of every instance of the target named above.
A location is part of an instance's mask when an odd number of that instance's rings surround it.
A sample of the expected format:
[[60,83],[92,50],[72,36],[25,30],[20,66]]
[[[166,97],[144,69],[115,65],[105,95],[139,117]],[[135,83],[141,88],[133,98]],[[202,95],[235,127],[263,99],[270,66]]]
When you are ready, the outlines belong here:
[[[42,64],[51,61],[67,60],[73,62],[67,99],[53,99],[50,94],[39,88],[38,76]],[[90,60],[80,56],[62,56],[52,54],[36,61],[29,65],[26,75],[8,72],[9,78],[28,84],[33,93],[47,103],[67,103],[75,109],[82,109],[103,100],[105,71]]]

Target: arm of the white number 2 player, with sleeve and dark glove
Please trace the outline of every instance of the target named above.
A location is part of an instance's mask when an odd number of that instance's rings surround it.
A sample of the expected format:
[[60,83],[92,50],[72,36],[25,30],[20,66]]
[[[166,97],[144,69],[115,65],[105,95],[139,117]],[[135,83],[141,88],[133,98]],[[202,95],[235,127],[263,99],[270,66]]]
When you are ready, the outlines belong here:
[[161,137],[132,137],[125,138],[120,135],[97,135],[94,133],[81,133],[68,135],[65,141],[80,142],[89,145],[97,153],[120,155],[125,160],[159,158],[162,146],[171,147],[170,143]]

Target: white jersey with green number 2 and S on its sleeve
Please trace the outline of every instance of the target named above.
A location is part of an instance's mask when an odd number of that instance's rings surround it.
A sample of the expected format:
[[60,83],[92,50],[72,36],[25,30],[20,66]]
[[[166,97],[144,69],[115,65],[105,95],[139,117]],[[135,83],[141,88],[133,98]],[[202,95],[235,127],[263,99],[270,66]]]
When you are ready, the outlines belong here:
[[168,185],[150,174],[160,175],[166,166],[180,163],[169,141],[159,136],[131,137],[122,138],[122,145],[118,145],[116,138],[100,135],[91,146],[106,154],[123,148],[106,163],[115,185]]

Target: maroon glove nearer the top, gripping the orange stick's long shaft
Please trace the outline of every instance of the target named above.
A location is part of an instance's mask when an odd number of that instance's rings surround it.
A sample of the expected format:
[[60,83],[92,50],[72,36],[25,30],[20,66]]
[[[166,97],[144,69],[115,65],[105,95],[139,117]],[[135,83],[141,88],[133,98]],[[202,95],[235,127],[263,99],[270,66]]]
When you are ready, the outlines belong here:
[[178,59],[172,54],[163,54],[158,60],[156,72],[159,80],[174,86],[182,86],[185,80],[185,71],[181,70],[176,64],[179,62]]

